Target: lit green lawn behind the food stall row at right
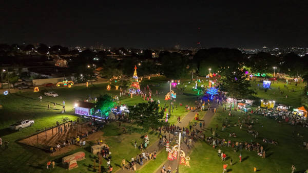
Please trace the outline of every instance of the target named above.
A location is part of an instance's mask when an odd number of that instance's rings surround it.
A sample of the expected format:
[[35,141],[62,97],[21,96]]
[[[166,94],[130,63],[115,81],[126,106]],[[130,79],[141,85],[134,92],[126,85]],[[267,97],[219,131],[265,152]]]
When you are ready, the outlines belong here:
[[[285,104],[287,106],[292,106],[294,108],[301,106],[301,96],[304,94],[303,89],[305,87],[305,84],[303,82],[297,83],[297,86],[295,86],[295,82],[288,82],[287,89],[284,88],[284,85],[286,84],[284,81],[272,81],[271,84],[271,90],[265,90],[262,87],[261,82],[256,80],[255,82],[252,81],[252,89],[257,91],[257,95],[255,98],[256,103],[260,103],[261,99],[267,99],[267,100],[275,100],[276,103]],[[280,94],[278,87],[280,88],[280,91],[283,91],[283,94]],[[294,92],[293,92],[294,89]],[[287,98],[285,98],[285,95],[287,95]],[[277,104],[275,105],[277,106]]]

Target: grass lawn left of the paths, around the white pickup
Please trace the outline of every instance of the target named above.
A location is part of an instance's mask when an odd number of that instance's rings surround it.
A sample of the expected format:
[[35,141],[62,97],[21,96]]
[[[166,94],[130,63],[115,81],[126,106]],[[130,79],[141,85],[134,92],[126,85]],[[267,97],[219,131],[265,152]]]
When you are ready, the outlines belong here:
[[[164,97],[165,94],[169,91],[169,83],[166,81],[161,81],[161,79],[164,78],[152,78],[152,80],[146,81],[144,80],[144,83],[161,83],[161,87],[150,87],[152,89],[152,93],[155,94],[156,90],[158,90],[160,93],[159,96],[153,96],[153,99],[160,99],[161,105],[164,104]],[[22,138],[25,138],[26,136],[29,136],[31,134],[34,134],[36,130],[38,129],[44,129],[45,127],[50,127],[55,125],[56,121],[61,121],[62,117],[68,117],[71,120],[76,120],[77,118],[80,118],[79,116],[74,116],[73,114],[73,105],[78,100],[85,100],[91,95],[91,98],[99,97],[99,95],[108,93],[111,95],[119,95],[119,91],[106,90],[106,85],[108,83],[103,84],[95,84],[95,85],[89,85],[89,88],[86,88],[84,86],[80,87],[73,87],[71,89],[68,88],[55,88],[50,89],[48,91],[55,91],[59,94],[59,97],[46,97],[44,96],[45,91],[40,91],[37,93],[34,92],[24,92],[24,93],[13,93],[9,94],[8,96],[0,96],[0,104],[3,105],[3,110],[0,110],[0,136],[4,141],[9,141],[9,149],[3,150],[1,149],[0,152],[0,169],[1,170],[7,170],[7,172],[21,172],[21,171],[29,171],[29,172],[42,172],[46,171],[46,162],[48,159],[53,160],[56,159],[57,163],[60,163],[60,158],[66,155],[69,155],[71,153],[78,152],[80,150],[86,152],[86,156],[89,155],[90,147],[86,147],[85,149],[79,148],[77,150],[71,151],[65,155],[59,156],[59,157],[50,157],[49,154],[43,152],[40,149],[36,149],[33,147],[28,147],[25,145],[17,144],[16,141]],[[143,84],[141,84],[141,87],[143,88]],[[42,95],[43,99],[42,102],[38,99],[38,96]],[[174,110],[174,113],[171,113],[171,117],[169,117],[169,122],[173,123],[177,121],[178,116],[185,116],[186,112],[184,111],[185,104],[194,104],[195,95],[193,94],[186,94],[178,95],[175,104],[177,104],[177,110]],[[65,107],[66,107],[66,113],[61,114],[62,110],[62,101],[65,100]],[[53,102],[56,102],[56,109],[53,109]],[[128,104],[128,105],[134,105],[136,103],[145,102],[140,96],[133,96],[131,99],[128,96],[122,96],[120,97],[120,102],[122,104]],[[47,105],[50,103],[51,110],[47,109]],[[166,106],[168,105],[168,101],[166,102]],[[179,103],[183,103],[183,106],[179,106]],[[20,119],[33,119],[35,121],[34,125],[32,127],[28,127],[23,129],[21,132],[12,132],[8,131],[7,127],[10,124],[15,123],[17,120]],[[106,127],[107,128],[107,127]],[[103,129],[104,131],[104,129]],[[123,159],[122,157],[130,159],[131,156],[135,156],[136,153],[129,153],[124,152],[125,147],[122,145],[127,143],[131,143],[132,139],[140,139],[140,134],[131,134],[132,136],[125,136],[127,138],[124,138],[119,135],[115,135],[112,137],[106,138],[106,142],[112,147],[111,150],[114,150],[114,152],[121,153],[113,156],[113,162],[111,164],[120,164],[120,161]],[[121,140],[120,140],[121,139]],[[129,141],[126,141],[125,139],[129,139]],[[150,137],[151,140],[151,137]],[[154,141],[155,138],[152,138],[152,141]],[[125,141],[121,142],[121,141]],[[122,145],[121,145],[122,144]],[[129,145],[130,146],[130,145]],[[120,148],[120,149],[119,149]],[[122,152],[121,152],[121,149]],[[123,156],[122,156],[123,155]],[[81,163],[81,164],[80,164]],[[86,170],[91,169],[89,167],[89,164],[93,164],[93,161],[90,161],[90,159],[86,159],[84,161],[81,161],[79,163],[80,168],[76,169],[78,170]],[[105,164],[105,163],[104,163]],[[106,165],[106,164],[105,164]],[[105,166],[104,165],[104,166]],[[117,167],[114,167],[114,169],[117,169]],[[56,169],[57,170],[57,169]],[[61,168],[61,171],[64,169]],[[51,170],[48,170],[51,171]]]

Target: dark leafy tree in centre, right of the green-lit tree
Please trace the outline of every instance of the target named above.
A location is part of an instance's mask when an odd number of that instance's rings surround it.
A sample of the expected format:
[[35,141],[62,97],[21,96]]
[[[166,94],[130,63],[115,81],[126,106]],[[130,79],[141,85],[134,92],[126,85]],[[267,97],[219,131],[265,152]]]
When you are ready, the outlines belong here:
[[147,103],[138,103],[136,106],[128,106],[129,119],[133,124],[143,127],[145,132],[149,129],[156,129],[165,125],[163,121],[164,112],[160,111],[156,101]]

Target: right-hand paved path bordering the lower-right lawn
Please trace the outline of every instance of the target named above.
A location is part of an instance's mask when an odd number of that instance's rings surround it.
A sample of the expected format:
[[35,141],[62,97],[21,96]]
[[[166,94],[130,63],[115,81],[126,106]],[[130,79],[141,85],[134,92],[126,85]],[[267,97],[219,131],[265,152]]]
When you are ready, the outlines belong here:
[[[211,104],[211,106],[217,107],[218,105],[217,105],[217,103],[213,103],[213,104]],[[206,114],[203,116],[203,118],[201,119],[201,122],[202,123],[204,122],[204,127],[201,127],[202,131],[204,131],[204,128],[206,128],[208,126],[208,124],[210,123],[210,120],[213,118],[213,116],[214,116],[214,112],[212,112],[212,111],[207,111]],[[187,123],[187,125],[188,125],[188,123]],[[197,125],[197,127],[200,130],[199,124]],[[192,145],[194,145],[194,143],[195,142],[193,142]],[[184,150],[186,156],[191,151],[191,149],[189,149],[186,146],[186,144],[185,144],[185,142],[183,140],[181,140],[181,149]],[[171,166],[171,171],[174,171],[174,170],[177,169],[177,165],[178,164],[177,164],[177,160],[170,161],[170,160],[167,160],[167,158],[166,158],[166,161],[159,168],[157,168],[157,170],[155,172],[161,173],[161,168],[162,168],[163,165],[165,165],[165,170],[167,170],[168,165],[170,165]]]

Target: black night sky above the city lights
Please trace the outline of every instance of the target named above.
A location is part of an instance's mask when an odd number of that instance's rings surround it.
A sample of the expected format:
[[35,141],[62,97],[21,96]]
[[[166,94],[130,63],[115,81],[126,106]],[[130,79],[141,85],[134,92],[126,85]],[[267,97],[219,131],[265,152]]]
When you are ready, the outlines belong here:
[[6,1],[0,5],[0,43],[195,48],[200,41],[203,48],[306,47],[307,9],[306,0]]

